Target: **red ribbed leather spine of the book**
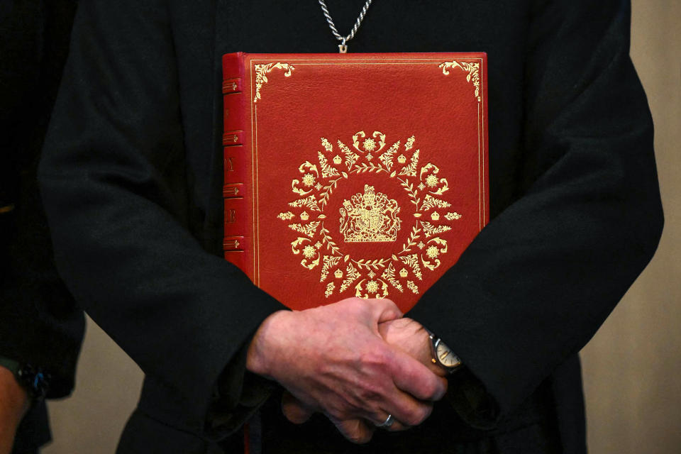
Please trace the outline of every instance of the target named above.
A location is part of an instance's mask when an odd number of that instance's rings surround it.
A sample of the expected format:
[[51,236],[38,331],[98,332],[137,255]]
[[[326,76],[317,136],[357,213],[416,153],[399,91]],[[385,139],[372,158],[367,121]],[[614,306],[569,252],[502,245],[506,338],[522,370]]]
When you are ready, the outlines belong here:
[[249,156],[245,146],[246,116],[245,108],[248,99],[243,92],[244,80],[243,54],[227,54],[223,56],[223,165],[224,184],[224,240],[225,259],[238,266],[250,276],[248,258],[253,251],[249,250],[248,219],[250,219],[248,201],[252,194],[248,193]]

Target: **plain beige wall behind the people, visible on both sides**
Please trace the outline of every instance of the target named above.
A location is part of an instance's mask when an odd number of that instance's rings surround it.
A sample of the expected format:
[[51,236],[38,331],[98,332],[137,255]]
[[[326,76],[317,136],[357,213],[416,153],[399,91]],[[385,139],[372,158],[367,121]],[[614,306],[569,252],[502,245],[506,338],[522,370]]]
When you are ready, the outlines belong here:
[[[633,0],[631,55],[655,120],[665,233],[650,266],[582,352],[592,454],[681,452],[680,0]],[[141,378],[88,321],[77,390],[51,404],[55,441],[45,454],[113,453]]]

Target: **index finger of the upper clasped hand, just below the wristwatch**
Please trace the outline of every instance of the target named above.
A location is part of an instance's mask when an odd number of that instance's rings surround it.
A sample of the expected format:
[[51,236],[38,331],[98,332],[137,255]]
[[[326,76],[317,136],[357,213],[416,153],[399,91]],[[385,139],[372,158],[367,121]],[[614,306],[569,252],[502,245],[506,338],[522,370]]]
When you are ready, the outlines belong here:
[[392,348],[393,358],[389,362],[390,375],[399,389],[416,399],[438,401],[447,392],[447,380],[438,377],[421,362],[411,358],[397,348]]

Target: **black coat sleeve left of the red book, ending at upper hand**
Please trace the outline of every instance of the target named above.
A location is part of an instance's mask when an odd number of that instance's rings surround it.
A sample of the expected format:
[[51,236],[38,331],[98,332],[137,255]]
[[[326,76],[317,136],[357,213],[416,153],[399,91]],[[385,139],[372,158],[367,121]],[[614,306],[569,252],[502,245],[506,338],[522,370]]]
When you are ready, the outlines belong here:
[[170,390],[153,416],[202,433],[218,377],[233,362],[237,406],[245,345],[283,306],[189,232],[173,40],[165,1],[79,6],[39,177],[68,287]]

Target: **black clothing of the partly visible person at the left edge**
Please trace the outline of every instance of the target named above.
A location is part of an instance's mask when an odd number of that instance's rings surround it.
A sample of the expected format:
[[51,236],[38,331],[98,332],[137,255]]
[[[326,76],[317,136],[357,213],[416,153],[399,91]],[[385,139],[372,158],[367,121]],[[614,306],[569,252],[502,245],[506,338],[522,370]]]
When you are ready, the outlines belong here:
[[[40,149],[64,67],[75,1],[0,9],[0,356],[42,367],[48,397],[71,392],[84,317],[57,275],[38,193]],[[45,404],[28,412],[13,453],[49,441]]]

